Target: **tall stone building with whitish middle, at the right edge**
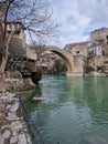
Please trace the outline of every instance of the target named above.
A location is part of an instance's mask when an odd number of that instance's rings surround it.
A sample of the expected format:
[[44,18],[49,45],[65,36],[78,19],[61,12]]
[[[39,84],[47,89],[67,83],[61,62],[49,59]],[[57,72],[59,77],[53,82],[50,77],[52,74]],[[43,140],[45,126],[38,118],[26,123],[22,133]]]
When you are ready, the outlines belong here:
[[104,71],[105,56],[107,54],[108,28],[101,28],[90,32],[90,44],[87,47],[88,61],[87,66],[94,71]]

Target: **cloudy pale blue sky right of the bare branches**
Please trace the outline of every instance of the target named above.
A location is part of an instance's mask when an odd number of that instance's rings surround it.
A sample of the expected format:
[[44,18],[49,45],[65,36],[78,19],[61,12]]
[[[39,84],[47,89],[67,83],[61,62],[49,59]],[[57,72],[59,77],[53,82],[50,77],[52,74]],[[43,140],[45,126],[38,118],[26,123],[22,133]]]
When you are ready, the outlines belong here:
[[58,24],[56,37],[48,44],[88,41],[90,32],[108,27],[108,0],[50,0],[53,20]]

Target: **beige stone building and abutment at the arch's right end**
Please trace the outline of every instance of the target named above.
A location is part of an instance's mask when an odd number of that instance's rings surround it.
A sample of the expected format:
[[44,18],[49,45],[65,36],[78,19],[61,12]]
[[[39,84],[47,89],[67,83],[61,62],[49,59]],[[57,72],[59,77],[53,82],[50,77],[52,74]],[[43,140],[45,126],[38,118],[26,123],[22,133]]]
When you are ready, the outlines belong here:
[[85,73],[85,61],[87,58],[87,44],[89,41],[86,42],[77,42],[66,44],[64,50],[69,52],[73,55],[74,60],[74,73],[77,75],[83,75]]

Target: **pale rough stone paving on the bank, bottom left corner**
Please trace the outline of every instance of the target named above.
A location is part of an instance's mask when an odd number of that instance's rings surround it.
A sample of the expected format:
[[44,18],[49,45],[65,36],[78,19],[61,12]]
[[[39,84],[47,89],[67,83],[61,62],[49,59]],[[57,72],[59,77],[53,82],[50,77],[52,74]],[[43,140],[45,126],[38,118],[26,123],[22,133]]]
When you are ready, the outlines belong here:
[[0,144],[32,144],[22,117],[19,99],[13,93],[0,93]]

